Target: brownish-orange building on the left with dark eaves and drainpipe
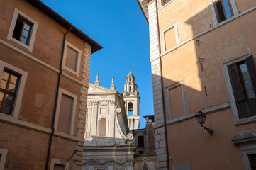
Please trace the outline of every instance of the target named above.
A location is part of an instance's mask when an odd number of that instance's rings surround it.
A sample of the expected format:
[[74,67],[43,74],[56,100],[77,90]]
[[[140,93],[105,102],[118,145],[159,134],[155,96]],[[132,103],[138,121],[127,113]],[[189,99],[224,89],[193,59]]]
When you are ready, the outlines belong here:
[[81,169],[90,55],[39,0],[0,1],[0,170]]

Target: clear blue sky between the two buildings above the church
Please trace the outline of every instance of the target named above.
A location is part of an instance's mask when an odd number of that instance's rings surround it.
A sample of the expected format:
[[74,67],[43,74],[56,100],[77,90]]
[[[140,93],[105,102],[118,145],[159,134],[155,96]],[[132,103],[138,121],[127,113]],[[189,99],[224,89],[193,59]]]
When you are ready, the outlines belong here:
[[153,115],[148,23],[136,0],[42,0],[104,48],[91,55],[89,82],[99,73],[100,85],[123,91],[131,71],[140,92],[140,128],[143,115]]

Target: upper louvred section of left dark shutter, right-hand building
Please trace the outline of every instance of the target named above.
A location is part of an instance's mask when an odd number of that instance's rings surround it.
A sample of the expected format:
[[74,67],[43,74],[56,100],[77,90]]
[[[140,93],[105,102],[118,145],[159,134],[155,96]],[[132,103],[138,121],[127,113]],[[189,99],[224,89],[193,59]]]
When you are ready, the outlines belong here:
[[233,93],[235,95],[236,103],[244,101],[245,95],[243,94],[242,85],[238,76],[238,70],[236,69],[235,63],[228,66],[228,72],[230,75],[230,81],[233,87]]

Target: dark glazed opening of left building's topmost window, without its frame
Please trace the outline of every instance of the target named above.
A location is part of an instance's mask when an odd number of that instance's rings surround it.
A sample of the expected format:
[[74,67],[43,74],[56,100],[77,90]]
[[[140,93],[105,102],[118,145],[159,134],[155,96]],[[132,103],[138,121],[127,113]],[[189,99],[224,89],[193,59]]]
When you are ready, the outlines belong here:
[[26,19],[24,19],[23,17],[18,16],[14,31],[13,31],[13,38],[28,45],[30,34],[32,31],[32,26],[33,26],[33,23],[30,23],[26,21]]

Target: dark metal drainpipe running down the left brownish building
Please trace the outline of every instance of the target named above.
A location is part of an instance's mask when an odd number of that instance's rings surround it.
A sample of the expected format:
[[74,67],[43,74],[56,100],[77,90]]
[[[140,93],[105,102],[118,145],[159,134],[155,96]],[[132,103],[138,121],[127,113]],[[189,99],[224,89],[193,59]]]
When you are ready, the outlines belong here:
[[60,67],[59,67],[59,74],[58,74],[58,77],[57,77],[57,89],[56,89],[56,93],[55,93],[55,103],[54,103],[53,115],[52,115],[52,125],[51,125],[52,132],[50,133],[50,138],[49,138],[49,143],[48,143],[48,152],[47,152],[47,158],[46,158],[46,162],[45,162],[45,170],[48,170],[48,164],[49,164],[49,159],[50,159],[50,149],[52,147],[52,135],[55,132],[54,124],[55,124],[55,115],[56,115],[56,108],[57,108],[57,97],[59,95],[59,89],[60,89],[60,75],[62,74],[62,60],[63,60],[63,55],[64,55],[65,40],[66,40],[67,33],[69,33],[69,31],[72,28],[73,28],[73,26],[71,26],[69,28],[69,30],[67,30],[67,32],[64,34],[63,42],[62,42],[62,51],[61,51],[61,57],[60,57]]

